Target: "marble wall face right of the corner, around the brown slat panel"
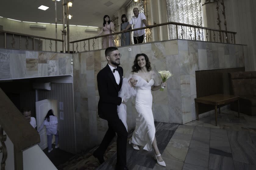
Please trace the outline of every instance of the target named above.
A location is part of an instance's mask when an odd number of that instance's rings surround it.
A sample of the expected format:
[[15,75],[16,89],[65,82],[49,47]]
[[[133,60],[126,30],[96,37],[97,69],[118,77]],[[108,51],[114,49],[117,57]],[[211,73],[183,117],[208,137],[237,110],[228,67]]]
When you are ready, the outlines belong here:
[[[244,67],[247,46],[178,40],[180,62],[180,88],[182,124],[196,120],[194,98],[196,95],[195,71]],[[204,117],[213,113],[200,114]]]

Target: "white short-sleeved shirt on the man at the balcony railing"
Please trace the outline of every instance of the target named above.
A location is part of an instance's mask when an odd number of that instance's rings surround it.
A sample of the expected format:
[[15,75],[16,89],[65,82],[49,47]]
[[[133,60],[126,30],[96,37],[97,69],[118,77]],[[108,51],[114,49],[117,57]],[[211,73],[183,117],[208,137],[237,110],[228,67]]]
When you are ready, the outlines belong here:
[[[135,17],[135,15],[132,16],[131,21],[129,22],[131,25],[133,25],[133,29],[136,28],[142,28],[145,26],[145,24],[142,22],[143,19],[146,19],[146,16],[143,13],[139,13],[138,18]],[[133,33],[133,36],[136,37],[142,36],[144,34],[144,29],[137,30]]]

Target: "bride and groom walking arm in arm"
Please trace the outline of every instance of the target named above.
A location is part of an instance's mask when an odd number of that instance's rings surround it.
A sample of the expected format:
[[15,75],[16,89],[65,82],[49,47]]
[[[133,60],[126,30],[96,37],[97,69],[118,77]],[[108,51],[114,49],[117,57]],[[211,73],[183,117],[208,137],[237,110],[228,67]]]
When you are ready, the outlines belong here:
[[120,67],[121,54],[116,47],[108,47],[105,50],[108,64],[97,75],[99,103],[99,117],[108,121],[108,130],[100,144],[94,151],[94,157],[100,163],[104,162],[103,155],[117,133],[117,160],[116,170],[127,170],[126,167],[126,102],[131,96],[136,96],[135,107],[137,110],[136,127],[129,143],[135,150],[139,146],[155,151],[155,159],[159,165],[165,166],[155,139],[155,124],[152,113],[151,90],[158,90],[157,74],[151,70],[150,62],[146,54],[137,54],[132,66],[132,74],[129,78],[123,78],[123,68]]

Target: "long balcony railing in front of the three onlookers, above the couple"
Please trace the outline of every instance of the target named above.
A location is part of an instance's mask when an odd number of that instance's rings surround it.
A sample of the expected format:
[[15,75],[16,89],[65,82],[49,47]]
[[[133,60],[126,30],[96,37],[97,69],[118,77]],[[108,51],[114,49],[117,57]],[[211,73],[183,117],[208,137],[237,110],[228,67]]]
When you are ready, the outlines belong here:
[[[159,35],[154,36],[152,34],[153,29],[159,29],[161,27],[167,27],[167,26],[168,26],[169,32],[168,33],[166,32],[166,37],[164,39],[160,39]],[[127,38],[126,36],[123,36],[125,32],[130,32],[130,35],[132,35],[132,32],[137,30],[142,30],[142,29],[145,29],[143,43],[156,42],[160,40],[170,40],[170,39],[187,39],[187,40],[221,42],[221,43],[230,43],[230,44],[236,43],[236,39],[235,39],[236,32],[212,29],[212,28],[183,24],[178,22],[166,22],[166,23],[155,24],[155,25],[151,25],[143,28],[131,29],[124,32],[120,31],[112,34],[106,34],[106,35],[72,41],[70,42],[70,46],[72,46],[72,48],[70,49],[73,49],[73,51],[76,51],[76,52],[103,49],[105,44],[105,41],[103,39],[104,37],[107,37],[106,42],[108,42],[109,37],[112,37],[112,43],[114,44],[114,46],[118,47],[118,46],[121,46],[122,41],[125,42]],[[155,30],[155,32],[159,34],[158,30]],[[170,32],[172,33],[170,34]],[[123,36],[123,39],[121,39],[122,36]],[[130,44],[124,44],[124,46],[131,45],[132,39],[133,37],[130,37]],[[138,38],[136,39],[138,41]]]

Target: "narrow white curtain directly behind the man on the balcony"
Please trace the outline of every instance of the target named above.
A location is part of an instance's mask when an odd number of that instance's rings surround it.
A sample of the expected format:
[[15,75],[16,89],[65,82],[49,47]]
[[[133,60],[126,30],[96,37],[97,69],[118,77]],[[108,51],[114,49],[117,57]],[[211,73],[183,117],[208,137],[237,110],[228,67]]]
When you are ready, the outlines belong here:
[[[133,9],[134,8],[138,8],[140,13],[144,13],[145,14],[145,10],[144,10],[144,0],[138,0],[138,2],[130,2],[129,5],[127,5],[126,7],[126,17],[128,19],[128,22],[130,22],[130,20],[132,19],[133,14]],[[132,26],[133,28],[133,26]],[[132,38],[132,44],[134,44],[133,42],[133,32],[131,35]]]

